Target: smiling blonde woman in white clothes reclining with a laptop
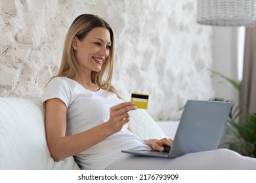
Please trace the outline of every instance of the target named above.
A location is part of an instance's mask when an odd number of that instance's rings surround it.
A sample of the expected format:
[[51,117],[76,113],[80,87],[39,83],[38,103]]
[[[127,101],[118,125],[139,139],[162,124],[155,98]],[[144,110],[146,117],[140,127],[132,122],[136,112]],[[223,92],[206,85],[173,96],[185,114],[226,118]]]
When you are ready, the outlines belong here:
[[[228,150],[176,159],[121,153],[129,149],[163,151],[172,140],[142,141],[133,135],[127,125],[128,112],[137,107],[124,102],[111,85],[113,66],[114,34],[110,25],[92,14],[75,18],[66,35],[60,71],[41,97],[47,144],[55,161],[74,156],[81,169],[205,169],[198,161],[212,159],[217,166],[209,163],[209,169],[234,168],[232,163],[238,155]],[[229,159],[223,160],[225,154],[230,154]],[[256,161],[252,164],[242,156],[239,161],[241,169],[256,169]]]

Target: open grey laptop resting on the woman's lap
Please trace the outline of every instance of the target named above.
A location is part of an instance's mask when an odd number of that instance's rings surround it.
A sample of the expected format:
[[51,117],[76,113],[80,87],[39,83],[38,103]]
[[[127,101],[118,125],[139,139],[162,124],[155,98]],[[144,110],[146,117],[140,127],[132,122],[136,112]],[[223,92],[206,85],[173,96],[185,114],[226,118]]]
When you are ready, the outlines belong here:
[[177,158],[184,154],[216,150],[232,103],[188,100],[169,151],[121,150],[140,156]]

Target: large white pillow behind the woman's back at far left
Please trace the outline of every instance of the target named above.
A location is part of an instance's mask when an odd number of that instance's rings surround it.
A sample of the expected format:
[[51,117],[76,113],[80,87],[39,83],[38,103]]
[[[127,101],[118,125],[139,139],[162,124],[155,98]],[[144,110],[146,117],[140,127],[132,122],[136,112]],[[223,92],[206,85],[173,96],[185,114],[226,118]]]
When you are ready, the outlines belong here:
[[39,101],[0,98],[0,116],[0,169],[79,169],[73,157],[51,158]]

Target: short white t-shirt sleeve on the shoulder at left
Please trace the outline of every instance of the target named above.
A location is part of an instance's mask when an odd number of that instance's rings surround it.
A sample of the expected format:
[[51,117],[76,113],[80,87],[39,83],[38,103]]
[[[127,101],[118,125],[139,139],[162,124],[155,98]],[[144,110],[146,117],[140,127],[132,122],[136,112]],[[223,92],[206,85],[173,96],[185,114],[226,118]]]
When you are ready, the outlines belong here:
[[56,77],[47,84],[45,92],[41,95],[41,102],[45,104],[48,99],[58,98],[62,100],[66,107],[70,105],[71,88],[64,78]]

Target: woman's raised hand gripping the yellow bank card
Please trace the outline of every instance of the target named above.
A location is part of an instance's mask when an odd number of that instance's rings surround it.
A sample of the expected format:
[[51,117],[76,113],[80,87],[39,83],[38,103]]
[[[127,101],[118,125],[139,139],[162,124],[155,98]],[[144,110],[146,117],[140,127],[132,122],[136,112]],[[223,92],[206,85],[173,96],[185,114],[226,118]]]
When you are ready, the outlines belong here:
[[135,110],[137,107],[133,102],[124,102],[110,108],[110,119],[108,124],[110,128],[116,133],[119,131],[124,124],[129,122],[129,111]]

